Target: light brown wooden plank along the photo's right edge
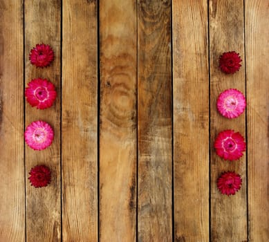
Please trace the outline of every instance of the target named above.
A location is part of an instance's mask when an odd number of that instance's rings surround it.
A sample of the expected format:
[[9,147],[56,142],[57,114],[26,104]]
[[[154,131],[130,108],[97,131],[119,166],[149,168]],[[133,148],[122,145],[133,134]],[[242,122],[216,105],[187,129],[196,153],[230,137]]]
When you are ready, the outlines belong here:
[[249,241],[269,241],[269,1],[245,1]]

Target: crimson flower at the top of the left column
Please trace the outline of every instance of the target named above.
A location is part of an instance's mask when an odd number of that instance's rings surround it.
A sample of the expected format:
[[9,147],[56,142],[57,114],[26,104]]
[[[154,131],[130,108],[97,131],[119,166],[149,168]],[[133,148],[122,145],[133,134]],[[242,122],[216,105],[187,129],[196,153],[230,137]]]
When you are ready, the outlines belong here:
[[54,59],[53,49],[48,44],[37,44],[30,51],[29,59],[37,67],[49,66]]

